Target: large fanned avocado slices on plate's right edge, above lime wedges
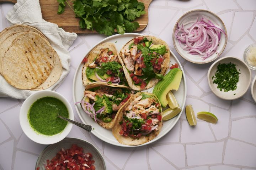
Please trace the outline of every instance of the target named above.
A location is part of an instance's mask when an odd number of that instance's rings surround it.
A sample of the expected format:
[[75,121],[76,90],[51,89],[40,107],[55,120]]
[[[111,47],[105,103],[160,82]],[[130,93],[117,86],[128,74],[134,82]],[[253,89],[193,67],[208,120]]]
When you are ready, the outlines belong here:
[[182,71],[179,68],[170,70],[164,76],[164,79],[159,81],[153,90],[153,94],[158,97],[162,107],[166,107],[168,104],[166,95],[170,90],[178,90],[182,78]]

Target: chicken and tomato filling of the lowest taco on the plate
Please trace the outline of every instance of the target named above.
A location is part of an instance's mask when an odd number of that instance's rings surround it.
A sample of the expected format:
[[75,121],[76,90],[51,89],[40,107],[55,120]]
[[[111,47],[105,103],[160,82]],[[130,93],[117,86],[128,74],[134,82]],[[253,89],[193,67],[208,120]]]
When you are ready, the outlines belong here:
[[125,108],[123,120],[119,122],[119,134],[139,139],[142,135],[149,135],[158,131],[162,121],[161,107],[158,100],[150,94],[141,93]]

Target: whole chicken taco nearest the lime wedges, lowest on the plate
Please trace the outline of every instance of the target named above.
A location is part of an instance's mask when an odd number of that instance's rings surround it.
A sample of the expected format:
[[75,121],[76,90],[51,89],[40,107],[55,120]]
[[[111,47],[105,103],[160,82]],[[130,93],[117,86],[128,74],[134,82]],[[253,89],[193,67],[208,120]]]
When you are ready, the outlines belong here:
[[124,145],[141,145],[155,138],[161,128],[162,110],[158,98],[139,92],[121,108],[112,132]]

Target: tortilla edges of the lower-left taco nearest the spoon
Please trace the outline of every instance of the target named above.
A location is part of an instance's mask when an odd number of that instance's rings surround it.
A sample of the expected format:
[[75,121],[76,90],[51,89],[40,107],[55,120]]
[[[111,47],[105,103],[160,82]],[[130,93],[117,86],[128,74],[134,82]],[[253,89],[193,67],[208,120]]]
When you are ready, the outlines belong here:
[[[94,82],[94,83],[91,83],[91,84],[89,84],[89,85],[87,85],[86,87],[85,87],[85,90],[89,90],[89,89],[91,89],[91,88],[93,88],[93,87],[100,87],[100,86],[110,86],[110,87],[116,87],[116,88],[128,88],[129,89],[129,87],[127,87],[127,86],[123,86],[123,85],[118,85],[118,84],[104,84],[104,83],[101,83],[101,82]],[[130,98],[132,98],[132,94],[131,94],[131,97]],[[128,100],[129,101],[129,100]],[[127,101],[127,102],[128,102]],[[126,103],[124,103],[124,105],[126,105]],[[123,105],[123,106],[124,106]],[[106,123],[106,122],[103,122],[102,121],[102,123],[101,122],[97,122],[99,125],[101,125],[103,128],[106,128],[106,129],[111,129],[112,127],[113,127],[113,125],[114,125],[114,123],[115,123],[115,121],[116,121],[116,119],[117,119],[117,116],[118,116],[118,114],[119,114],[119,111],[123,108],[123,106],[117,111],[117,114],[116,114],[116,117],[114,118],[114,119],[112,119],[111,120],[111,122],[108,122],[108,123]],[[86,113],[85,113],[86,114]]]

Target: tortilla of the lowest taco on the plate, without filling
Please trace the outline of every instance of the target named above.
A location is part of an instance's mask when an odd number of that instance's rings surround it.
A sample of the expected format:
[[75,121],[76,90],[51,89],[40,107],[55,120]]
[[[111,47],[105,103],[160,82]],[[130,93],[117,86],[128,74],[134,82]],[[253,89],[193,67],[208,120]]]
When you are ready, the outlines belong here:
[[[151,94],[151,93],[147,93],[147,92],[144,92],[145,94],[148,94],[148,95],[152,95],[154,96],[157,101],[158,101],[158,104],[160,105],[161,107],[161,104],[158,100],[158,98],[154,95],[154,94]],[[152,139],[154,139],[156,136],[158,136],[158,134],[160,133],[161,131],[161,128],[162,128],[162,121],[159,121],[158,122],[158,131],[153,131],[151,132],[148,136],[144,136],[142,135],[139,139],[134,139],[132,137],[129,137],[129,136],[122,136],[119,134],[122,126],[119,124],[120,121],[123,121],[123,114],[126,112],[125,111],[125,108],[126,106],[128,106],[131,102],[133,102],[133,100],[138,97],[140,94],[142,94],[142,92],[139,92],[135,95],[133,95],[127,102],[126,104],[123,105],[122,108],[120,108],[119,110],[119,113],[118,113],[118,116],[117,116],[117,119],[114,123],[114,126],[113,126],[113,129],[112,129],[112,133],[114,135],[114,137],[116,138],[116,140],[119,142],[119,143],[122,143],[124,145],[142,145],[143,143],[146,143],[148,141],[151,141]],[[162,109],[162,108],[161,108]],[[162,115],[162,113],[160,113]]]

